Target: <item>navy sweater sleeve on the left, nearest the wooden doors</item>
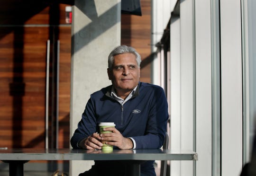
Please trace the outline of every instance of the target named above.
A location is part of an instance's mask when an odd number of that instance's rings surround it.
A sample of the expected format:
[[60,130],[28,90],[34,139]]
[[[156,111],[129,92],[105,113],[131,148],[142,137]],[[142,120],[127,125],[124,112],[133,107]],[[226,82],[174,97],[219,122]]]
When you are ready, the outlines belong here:
[[97,122],[93,109],[92,98],[90,98],[86,104],[84,112],[82,113],[82,119],[78,123],[77,129],[70,140],[71,146],[74,149],[78,148],[77,144],[79,141],[87,138],[97,131]]

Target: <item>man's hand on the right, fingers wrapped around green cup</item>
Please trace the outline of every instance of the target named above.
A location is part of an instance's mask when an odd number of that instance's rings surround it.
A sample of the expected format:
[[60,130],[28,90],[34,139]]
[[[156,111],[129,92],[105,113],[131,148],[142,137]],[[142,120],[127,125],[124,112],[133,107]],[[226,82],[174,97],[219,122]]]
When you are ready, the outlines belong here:
[[133,142],[123,135],[114,127],[104,128],[104,131],[111,131],[109,133],[101,134],[101,140],[107,141],[106,144],[117,146],[119,149],[132,149]]

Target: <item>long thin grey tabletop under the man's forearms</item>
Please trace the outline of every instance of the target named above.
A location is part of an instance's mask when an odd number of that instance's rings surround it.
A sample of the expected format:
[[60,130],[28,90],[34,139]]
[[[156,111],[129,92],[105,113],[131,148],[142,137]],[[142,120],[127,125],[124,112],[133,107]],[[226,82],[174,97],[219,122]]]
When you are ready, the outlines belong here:
[[0,160],[197,160],[188,150],[102,150],[82,149],[6,149]]

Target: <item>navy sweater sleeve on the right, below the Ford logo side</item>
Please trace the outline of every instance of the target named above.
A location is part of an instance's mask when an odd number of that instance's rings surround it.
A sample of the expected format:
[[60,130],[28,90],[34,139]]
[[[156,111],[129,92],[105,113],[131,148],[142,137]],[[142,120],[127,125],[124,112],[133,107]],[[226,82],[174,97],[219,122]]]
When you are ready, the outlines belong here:
[[132,137],[136,141],[136,149],[159,149],[164,143],[167,127],[168,103],[163,88],[155,89],[153,94],[146,132],[144,136]]

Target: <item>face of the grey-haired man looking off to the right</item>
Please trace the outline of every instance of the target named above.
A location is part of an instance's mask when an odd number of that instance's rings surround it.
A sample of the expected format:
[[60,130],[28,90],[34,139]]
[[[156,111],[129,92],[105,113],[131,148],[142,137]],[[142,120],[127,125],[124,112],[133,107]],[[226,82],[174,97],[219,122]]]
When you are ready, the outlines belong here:
[[126,93],[134,89],[140,77],[140,68],[136,56],[132,53],[123,53],[114,56],[112,69],[108,69],[109,79],[119,93]]

